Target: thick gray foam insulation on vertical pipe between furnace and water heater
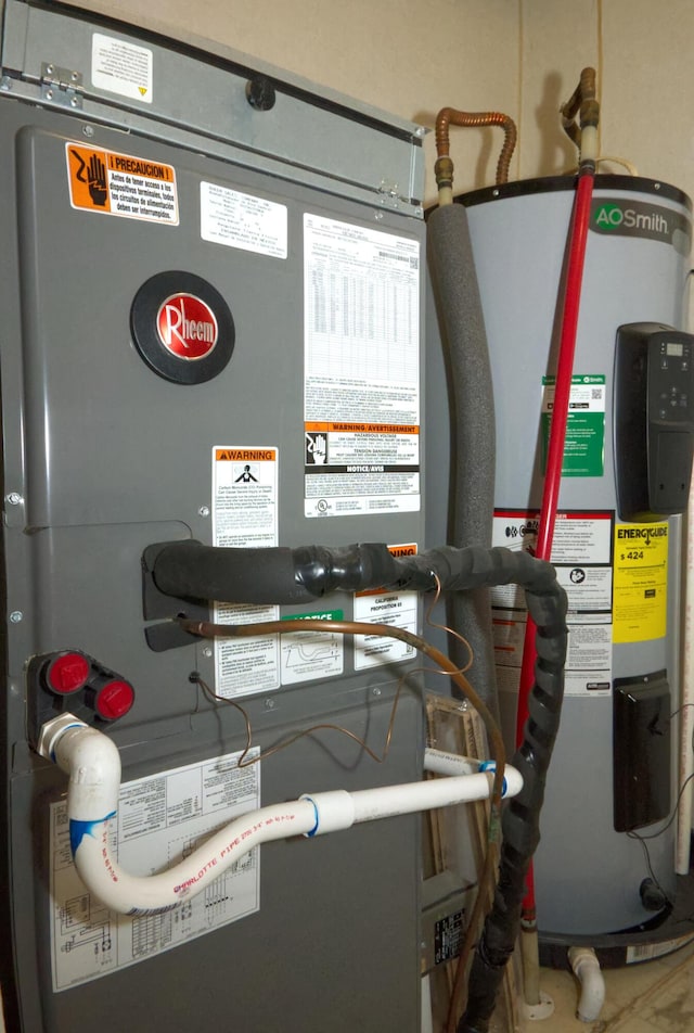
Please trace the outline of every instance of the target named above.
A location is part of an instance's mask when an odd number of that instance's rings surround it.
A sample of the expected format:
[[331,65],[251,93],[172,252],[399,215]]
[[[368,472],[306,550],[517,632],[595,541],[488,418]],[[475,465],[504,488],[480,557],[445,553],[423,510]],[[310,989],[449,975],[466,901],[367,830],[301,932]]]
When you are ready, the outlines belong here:
[[[452,395],[451,512],[449,541],[457,548],[490,548],[493,520],[496,422],[485,317],[467,212],[460,204],[436,208],[427,222],[429,269]],[[449,624],[470,642],[468,677],[499,717],[488,588],[451,597]],[[458,666],[465,647],[450,641]]]

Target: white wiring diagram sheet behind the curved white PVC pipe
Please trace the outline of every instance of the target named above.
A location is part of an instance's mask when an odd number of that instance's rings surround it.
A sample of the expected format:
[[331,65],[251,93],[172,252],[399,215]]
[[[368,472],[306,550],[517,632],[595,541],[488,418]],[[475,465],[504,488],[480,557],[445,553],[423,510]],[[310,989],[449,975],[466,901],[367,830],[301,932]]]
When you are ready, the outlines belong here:
[[[257,749],[249,757],[258,756]],[[160,771],[120,787],[112,850],[123,868],[149,876],[174,867],[217,829],[260,806],[260,765],[240,753]],[[110,911],[73,864],[67,804],[50,806],[50,931],[53,991],[68,990],[170,951],[257,911],[259,847],[197,896],[159,915]]]

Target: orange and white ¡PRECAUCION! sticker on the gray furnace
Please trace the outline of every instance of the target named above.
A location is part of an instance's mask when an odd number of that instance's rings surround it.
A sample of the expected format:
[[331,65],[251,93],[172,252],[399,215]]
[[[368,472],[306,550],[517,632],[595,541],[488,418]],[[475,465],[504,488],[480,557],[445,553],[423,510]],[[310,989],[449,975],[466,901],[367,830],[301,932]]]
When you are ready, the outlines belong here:
[[176,173],[170,165],[66,143],[74,208],[178,226]]

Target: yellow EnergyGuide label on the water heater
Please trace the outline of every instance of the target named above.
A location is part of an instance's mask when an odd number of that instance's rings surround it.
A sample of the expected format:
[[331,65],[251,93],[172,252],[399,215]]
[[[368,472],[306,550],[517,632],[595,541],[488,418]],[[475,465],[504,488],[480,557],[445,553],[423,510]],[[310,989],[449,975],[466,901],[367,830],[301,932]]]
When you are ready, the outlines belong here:
[[668,609],[668,524],[615,528],[615,641],[663,638]]

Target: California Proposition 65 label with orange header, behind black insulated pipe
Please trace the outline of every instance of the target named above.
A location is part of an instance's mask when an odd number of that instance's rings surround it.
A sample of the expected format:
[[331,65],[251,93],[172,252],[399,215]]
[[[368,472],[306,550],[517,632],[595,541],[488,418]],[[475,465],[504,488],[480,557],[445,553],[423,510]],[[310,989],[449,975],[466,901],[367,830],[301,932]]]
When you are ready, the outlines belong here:
[[[415,556],[416,545],[389,545],[393,556]],[[355,596],[355,621],[387,624],[416,635],[419,595],[415,591],[386,591],[372,588]],[[355,669],[412,660],[414,647],[385,635],[355,635]]]

